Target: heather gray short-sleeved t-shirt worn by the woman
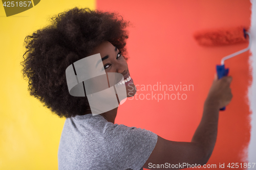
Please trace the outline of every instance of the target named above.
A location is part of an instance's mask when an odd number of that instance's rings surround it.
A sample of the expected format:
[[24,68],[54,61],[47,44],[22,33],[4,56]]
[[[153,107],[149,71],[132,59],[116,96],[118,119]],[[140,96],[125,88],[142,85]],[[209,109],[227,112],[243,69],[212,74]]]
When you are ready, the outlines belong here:
[[156,142],[151,131],[113,124],[101,115],[77,115],[65,121],[58,169],[140,170]]

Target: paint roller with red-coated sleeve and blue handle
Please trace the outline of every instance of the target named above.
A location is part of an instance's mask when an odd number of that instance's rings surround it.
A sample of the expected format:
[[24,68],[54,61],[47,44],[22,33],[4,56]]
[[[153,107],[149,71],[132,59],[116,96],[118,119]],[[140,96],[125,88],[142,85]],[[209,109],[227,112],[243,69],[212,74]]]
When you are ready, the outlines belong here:
[[[219,30],[208,30],[201,31],[194,34],[194,38],[200,45],[203,46],[220,46],[220,45],[230,45],[248,42],[249,45],[247,48],[240,50],[236,53],[230,54],[221,59],[221,65],[216,65],[216,71],[218,79],[221,79],[224,76],[228,75],[229,68],[225,68],[224,61],[230,59],[234,56],[237,56],[241,53],[248,51],[251,47],[251,35],[246,31],[245,27],[236,27],[229,29],[219,29]],[[226,107],[221,108],[220,110],[225,110]]]

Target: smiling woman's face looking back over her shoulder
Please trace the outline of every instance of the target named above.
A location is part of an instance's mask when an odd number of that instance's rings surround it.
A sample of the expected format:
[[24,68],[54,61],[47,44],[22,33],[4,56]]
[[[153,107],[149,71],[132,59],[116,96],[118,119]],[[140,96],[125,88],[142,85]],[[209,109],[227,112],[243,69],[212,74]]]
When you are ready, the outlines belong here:
[[103,68],[105,72],[118,72],[123,75],[127,97],[132,97],[136,93],[136,87],[131,78],[126,60],[121,55],[121,52],[109,41],[104,41],[94,48],[93,52],[88,55],[100,53]]

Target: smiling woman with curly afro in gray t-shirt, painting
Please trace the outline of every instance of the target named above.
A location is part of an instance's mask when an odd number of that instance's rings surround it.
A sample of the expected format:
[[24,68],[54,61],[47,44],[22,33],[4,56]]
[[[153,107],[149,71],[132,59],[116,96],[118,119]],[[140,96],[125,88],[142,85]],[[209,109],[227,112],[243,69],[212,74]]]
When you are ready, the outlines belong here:
[[205,164],[216,142],[219,109],[232,98],[231,77],[215,78],[191,142],[169,141],[145,129],[117,125],[118,107],[93,115],[89,104],[93,93],[86,95],[88,89],[84,89],[81,96],[70,94],[66,69],[73,64],[76,70],[75,62],[98,54],[106,74],[114,72],[126,79],[119,84],[125,85],[127,97],[136,93],[124,57],[127,26],[129,22],[115,13],[74,8],[58,14],[50,26],[25,40],[22,65],[30,94],[59,117],[66,117],[58,150],[59,169],[137,170],[161,164],[164,169],[181,169],[187,167],[183,163]]

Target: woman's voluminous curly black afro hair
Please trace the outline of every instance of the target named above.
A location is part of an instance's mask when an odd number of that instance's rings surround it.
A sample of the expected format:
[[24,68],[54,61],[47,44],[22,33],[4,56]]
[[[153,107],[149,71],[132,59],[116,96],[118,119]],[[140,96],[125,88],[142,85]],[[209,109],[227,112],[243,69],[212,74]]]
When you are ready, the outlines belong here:
[[127,60],[125,28],[130,21],[118,13],[77,7],[50,21],[49,26],[25,38],[26,53],[20,62],[23,77],[28,78],[30,95],[59,117],[83,115],[90,109],[88,99],[69,94],[66,68],[103,41],[111,42]]

